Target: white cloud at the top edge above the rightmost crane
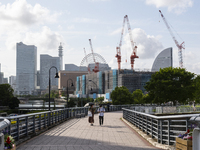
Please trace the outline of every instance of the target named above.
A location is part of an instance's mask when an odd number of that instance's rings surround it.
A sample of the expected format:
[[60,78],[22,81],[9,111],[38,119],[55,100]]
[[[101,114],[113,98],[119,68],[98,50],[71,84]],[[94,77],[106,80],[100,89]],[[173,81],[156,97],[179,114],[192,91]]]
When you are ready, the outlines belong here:
[[180,14],[192,7],[193,0],[146,0],[146,4],[155,5],[157,8],[167,7],[168,11]]

